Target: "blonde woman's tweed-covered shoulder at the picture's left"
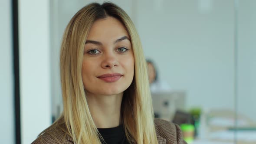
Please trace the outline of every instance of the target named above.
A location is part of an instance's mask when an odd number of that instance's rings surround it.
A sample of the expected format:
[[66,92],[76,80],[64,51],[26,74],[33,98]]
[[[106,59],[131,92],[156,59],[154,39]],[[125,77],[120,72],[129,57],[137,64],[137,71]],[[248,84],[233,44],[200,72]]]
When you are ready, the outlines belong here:
[[47,128],[31,144],[73,144],[72,138],[60,127]]

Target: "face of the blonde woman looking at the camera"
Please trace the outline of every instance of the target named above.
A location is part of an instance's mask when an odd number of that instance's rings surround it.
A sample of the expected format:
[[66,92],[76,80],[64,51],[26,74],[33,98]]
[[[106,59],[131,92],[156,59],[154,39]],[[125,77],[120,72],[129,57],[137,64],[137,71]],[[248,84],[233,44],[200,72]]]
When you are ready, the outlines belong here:
[[117,95],[134,76],[134,57],[125,27],[107,17],[95,21],[85,42],[82,80],[87,94]]

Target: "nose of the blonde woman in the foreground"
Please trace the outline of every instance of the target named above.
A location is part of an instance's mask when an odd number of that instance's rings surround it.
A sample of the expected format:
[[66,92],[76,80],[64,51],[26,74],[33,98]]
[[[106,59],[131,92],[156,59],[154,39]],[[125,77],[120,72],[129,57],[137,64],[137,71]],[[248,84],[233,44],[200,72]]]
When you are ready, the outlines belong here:
[[118,66],[118,59],[114,54],[105,53],[104,59],[101,64],[103,69],[112,69]]

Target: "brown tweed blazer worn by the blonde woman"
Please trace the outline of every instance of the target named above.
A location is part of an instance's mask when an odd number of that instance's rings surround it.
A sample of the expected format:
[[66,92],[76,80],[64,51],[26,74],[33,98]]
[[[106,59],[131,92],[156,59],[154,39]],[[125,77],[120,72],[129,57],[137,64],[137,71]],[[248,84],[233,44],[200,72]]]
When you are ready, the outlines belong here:
[[[187,144],[183,140],[181,129],[177,124],[159,118],[155,118],[154,124],[158,144]],[[48,132],[55,137],[49,134],[42,134],[32,144],[74,144],[72,137],[65,134],[61,129],[54,129]]]

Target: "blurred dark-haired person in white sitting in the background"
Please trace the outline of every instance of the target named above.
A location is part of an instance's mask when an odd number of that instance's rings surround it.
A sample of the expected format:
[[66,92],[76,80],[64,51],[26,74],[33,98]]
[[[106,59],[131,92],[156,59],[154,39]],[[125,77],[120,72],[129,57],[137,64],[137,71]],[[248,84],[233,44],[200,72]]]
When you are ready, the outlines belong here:
[[150,59],[147,59],[148,65],[148,79],[150,83],[150,90],[152,93],[158,92],[170,92],[171,87],[167,82],[161,81],[158,77],[158,71],[154,62]]

